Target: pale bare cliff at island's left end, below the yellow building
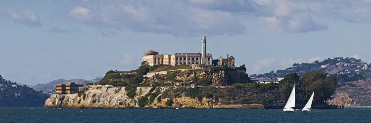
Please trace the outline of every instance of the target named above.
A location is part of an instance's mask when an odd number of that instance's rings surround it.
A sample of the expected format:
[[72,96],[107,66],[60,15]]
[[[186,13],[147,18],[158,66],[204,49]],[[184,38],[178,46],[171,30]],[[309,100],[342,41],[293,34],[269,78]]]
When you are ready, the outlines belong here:
[[133,106],[133,99],[124,88],[85,87],[84,93],[53,94],[45,101],[45,108],[126,108]]

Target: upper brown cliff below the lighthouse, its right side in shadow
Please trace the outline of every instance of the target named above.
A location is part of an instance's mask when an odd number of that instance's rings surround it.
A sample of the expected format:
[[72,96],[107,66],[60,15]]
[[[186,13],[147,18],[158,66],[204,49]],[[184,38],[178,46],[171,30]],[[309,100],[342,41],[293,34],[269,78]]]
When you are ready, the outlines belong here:
[[225,86],[232,85],[234,83],[249,83],[250,79],[248,75],[238,69],[197,69],[188,70],[177,74],[176,80],[178,81],[192,81],[194,77],[197,78],[198,82],[205,85],[214,86]]

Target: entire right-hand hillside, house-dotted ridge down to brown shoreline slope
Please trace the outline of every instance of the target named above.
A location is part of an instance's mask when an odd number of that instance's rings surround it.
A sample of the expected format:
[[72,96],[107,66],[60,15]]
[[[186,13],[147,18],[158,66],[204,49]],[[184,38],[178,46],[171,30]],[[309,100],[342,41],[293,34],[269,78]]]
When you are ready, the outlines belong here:
[[284,70],[264,74],[253,74],[250,78],[285,77],[289,73],[303,75],[311,71],[324,71],[340,78],[340,87],[336,89],[329,104],[344,106],[371,106],[371,64],[355,58],[328,58],[312,63],[294,63]]

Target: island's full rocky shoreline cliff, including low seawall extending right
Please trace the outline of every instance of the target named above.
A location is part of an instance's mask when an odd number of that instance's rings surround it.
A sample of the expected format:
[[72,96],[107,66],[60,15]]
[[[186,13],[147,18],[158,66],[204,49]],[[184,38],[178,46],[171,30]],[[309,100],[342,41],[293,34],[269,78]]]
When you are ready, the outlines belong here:
[[[137,87],[136,96],[134,99],[129,98],[126,95],[125,88],[119,87],[97,87],[87,86],[84,88],[84,92],[79,94],[64,94],[58,95],[53,94],[45,102],[45,108],[244,108],[244,109],[261,109],[262,105],[224,105],[220,104],[220,100],[223,98],[213,97],[189,97],[185,93],[177,93],[177,97],[169,97],[163,95],[166,90],[167,92],[173,92],[175,87],[161,87],[156,88],[156,92],[159,92],[155,96],[153,102],[146,104],[143,107],[139,107],[139,98],[147,97],[151,94],[149,91],[152,87]],[[152,92],[154,92],[152,90]],[[161,98],[162,99],[158,99]],[[172,100],[171,105],[167,105],[166,102]],[[147,103],[147,102],[146,102]]]

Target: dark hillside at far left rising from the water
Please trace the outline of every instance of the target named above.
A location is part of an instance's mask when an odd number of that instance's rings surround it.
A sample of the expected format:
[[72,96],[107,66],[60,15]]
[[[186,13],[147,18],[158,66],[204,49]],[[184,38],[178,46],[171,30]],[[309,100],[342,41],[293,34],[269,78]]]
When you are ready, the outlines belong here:
[[0,75],[0,107],[39,107],[48,96],[26,85],[19,86]]

